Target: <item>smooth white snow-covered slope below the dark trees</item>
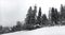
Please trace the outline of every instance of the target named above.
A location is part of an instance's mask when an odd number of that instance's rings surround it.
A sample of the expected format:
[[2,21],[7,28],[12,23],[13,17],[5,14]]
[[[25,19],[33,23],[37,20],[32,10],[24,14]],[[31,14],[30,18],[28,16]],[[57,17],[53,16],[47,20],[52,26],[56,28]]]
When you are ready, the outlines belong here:
[[65,35],[65,25],[41,28],[32,31],[21,31],[2,35]]

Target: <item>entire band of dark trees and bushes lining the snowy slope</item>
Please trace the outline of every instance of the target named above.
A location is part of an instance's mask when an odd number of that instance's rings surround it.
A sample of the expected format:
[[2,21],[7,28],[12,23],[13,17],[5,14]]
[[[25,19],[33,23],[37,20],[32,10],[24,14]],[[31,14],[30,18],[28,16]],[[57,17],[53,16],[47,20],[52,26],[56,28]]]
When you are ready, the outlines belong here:
[[55,7],[51,7],[49,11],[49,18],[47,14],[42,14],[42,7],[39,7],[37,11],[37,6],[29,6],[26,18],[23,22],[16,21],[16,25],[11,28],[0,25],[0,34],[16,32],[16,31],[25,31],[25,30],[35,30],[43,27],[54,27],[54,25],[65,25],[65,6],[61,4],[60,12]]

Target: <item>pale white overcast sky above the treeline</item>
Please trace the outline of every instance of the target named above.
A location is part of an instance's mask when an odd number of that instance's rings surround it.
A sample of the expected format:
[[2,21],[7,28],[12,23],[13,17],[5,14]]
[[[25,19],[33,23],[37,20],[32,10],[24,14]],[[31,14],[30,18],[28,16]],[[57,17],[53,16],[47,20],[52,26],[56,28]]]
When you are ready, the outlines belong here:
[[41,6],[42,14],[48,15],[50,7],[60,8],[64,3],[64,0],[0,0],[0,24],[13,25],[17,20],[24,20],[30,5]]

